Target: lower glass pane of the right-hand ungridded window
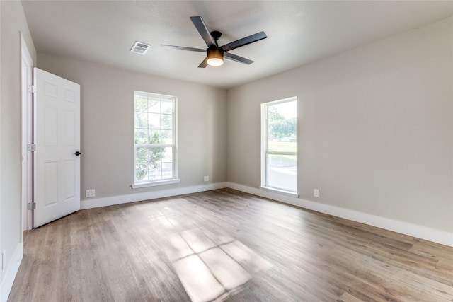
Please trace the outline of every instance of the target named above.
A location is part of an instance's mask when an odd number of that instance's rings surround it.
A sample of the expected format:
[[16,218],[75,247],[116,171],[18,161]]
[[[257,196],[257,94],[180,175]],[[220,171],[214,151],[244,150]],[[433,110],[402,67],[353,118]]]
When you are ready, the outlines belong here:
[[268,155],[268,186],[282,190],[297,190],[296,156]]

